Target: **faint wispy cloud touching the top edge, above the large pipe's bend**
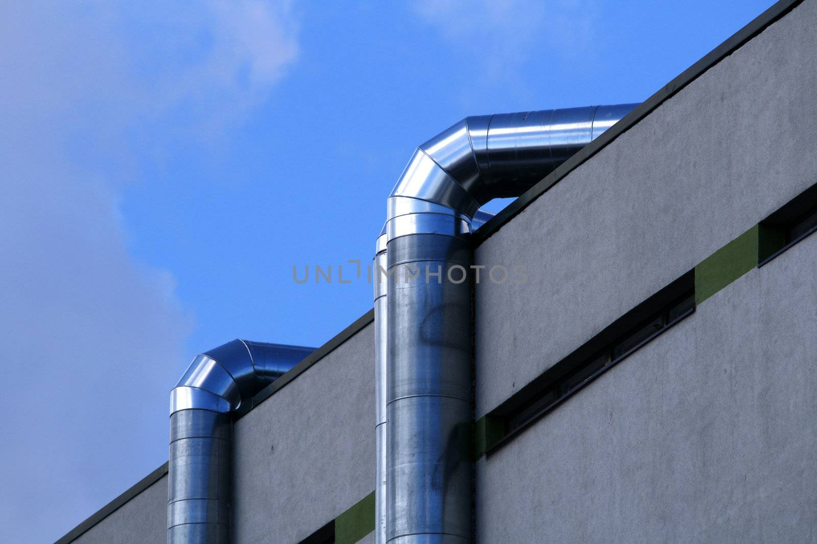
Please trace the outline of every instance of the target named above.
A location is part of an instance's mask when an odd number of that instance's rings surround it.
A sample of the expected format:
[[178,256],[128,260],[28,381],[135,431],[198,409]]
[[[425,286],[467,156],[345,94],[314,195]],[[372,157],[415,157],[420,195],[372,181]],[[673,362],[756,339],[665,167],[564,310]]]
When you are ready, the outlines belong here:
[[498,81],[519,76],[532,58],[587,52],[598,18],[594,2],[578,0],[422,0],[415,10],[475,63],[477,79]]

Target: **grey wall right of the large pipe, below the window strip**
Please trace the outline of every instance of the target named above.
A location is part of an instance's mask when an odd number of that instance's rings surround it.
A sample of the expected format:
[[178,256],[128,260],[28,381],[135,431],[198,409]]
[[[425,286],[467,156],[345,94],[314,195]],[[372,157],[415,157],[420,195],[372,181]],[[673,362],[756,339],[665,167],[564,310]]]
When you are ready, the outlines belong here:
[[817,235],[477,463],[480,542],[817,541]]

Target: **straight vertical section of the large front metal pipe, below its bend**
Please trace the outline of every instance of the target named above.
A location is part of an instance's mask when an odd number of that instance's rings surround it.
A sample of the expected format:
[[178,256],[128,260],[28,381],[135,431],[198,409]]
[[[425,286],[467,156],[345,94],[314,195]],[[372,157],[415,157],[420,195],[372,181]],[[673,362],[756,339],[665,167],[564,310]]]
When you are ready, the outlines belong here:
[[427,201],[392,204],[401,210],[387,224],[387,538],[470,542],[470,223]]

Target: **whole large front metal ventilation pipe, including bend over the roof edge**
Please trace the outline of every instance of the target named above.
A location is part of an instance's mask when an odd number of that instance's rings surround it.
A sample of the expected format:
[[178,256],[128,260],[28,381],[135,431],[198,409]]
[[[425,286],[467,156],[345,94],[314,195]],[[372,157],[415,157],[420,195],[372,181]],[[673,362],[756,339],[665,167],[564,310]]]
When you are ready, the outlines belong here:
[[377,349],[386,357],[387,542],[471,541],[471,281],[463,272],[475,213],[493,198],[520,196],[636,105],[467,117],[417,148],[400,175],[386,222],[396,281],[382,296],[386,350]]

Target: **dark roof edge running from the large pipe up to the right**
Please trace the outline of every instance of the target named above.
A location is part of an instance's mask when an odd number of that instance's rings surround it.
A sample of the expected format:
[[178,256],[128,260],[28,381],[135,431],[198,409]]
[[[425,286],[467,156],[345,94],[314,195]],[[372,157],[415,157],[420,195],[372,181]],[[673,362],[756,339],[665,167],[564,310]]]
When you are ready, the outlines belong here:
[[681,74],[654,95],[650,96],[641,105],[636,107],[632,112],[627,113],[626,116],[614,126],[605,130],[598,138],[594,139],[590,144],[587,144],[581,151],[570,157],[567,161],[561,164],[556,170],[553,170],[542,181],[525,191],[519,198],[511,202],[492,219],[489,219],[482,227],[476,230],[471,237],[474,247],[478,247],[489,237],[493,236],[502,226],[508,221],[525,210],[529,204],[541,197],[544,192],[558,182],[564,179],[570,172],[581,166],[584,161],[599,153],[607,144],[618,138],[624,132],[629,130],[637,122],[649,115],[655,108],[658,108],[666,100],[672,98],[678,91],[681,91],[685,86],[689,85],[699,76],[701,76],[708,69],[712,68],[725,57],[737,51],[743,44],[755,38],[759,33],[763,32],[771,24],[775,23],[789,11],[792,11],[803,0],[779,0],[772,7],[757,15],[751,22],[749,22],[743,29],[734,33],[730,38],[726,38],[721,45],[717,46],[706,55],[703,55],[701,60],[685,69]]

